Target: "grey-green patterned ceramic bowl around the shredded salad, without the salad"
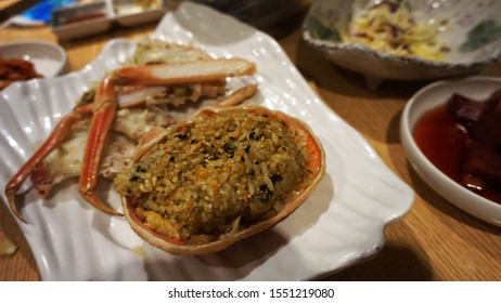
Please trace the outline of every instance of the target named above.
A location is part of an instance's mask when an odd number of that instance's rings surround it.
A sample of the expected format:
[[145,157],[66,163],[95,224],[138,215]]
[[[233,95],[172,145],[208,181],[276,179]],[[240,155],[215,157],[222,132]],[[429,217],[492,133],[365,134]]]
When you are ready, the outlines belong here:
[[[367,44],[343,41],[354,16],[381,3],[404,5],[418,23],[439,24],[437,40],[447,52],[441,61],[398,56]],[[501,1],[479,0],[317,0],[303,25],[303,39],[333,63],[381,80],[423,80],[478,71],[501,54]]]

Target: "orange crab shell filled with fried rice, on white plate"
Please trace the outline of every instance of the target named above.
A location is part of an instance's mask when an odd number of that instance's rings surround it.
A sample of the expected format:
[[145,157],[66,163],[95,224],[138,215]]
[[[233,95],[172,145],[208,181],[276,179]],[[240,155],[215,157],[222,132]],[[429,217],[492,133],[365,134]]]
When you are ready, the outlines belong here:
[[115,179],[124,214],[177,254],[217,252],[272,227],[325,172],[310,128],[261,106],[202,109],[138,158]]

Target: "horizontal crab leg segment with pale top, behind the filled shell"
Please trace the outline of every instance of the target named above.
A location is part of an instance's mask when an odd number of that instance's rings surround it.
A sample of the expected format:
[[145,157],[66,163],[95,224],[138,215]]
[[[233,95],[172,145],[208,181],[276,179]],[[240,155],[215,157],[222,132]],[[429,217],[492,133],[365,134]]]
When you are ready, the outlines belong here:
[[113,77],[123,85],[160,85],[215,81],[255,71],[256,65],[246,60],[217,58],[126,67],[116,70]]

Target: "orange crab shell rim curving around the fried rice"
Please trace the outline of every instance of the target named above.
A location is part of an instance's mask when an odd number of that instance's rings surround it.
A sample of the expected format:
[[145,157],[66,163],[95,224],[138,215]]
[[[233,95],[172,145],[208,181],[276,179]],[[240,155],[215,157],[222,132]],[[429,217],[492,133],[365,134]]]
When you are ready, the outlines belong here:
[[168,237],[152,230],[151,228],[146,227],[136,215],[132,206],[133,202],[123,197],[121,201],[125,218],[129,222],[132,229],[150,245],[175,254],[200,255],[223,250],[236,241],[271,228],[277,223],[287,218],[308,198],[308,196],[320,183],[325,173],[325,154],[323,147],[311,129],[298,119],[290,117],[280,111],[267,109],[261,106],[235,106],[223,108],[204,108],[197,111],[197,114],[192,116],[188,121],[183,123],[193,122],[196,121],[196,119],[210,119],[210,117],[227,110],[242,109],[249,113],[267,114],[268,116],[272,116],[281,122],[284,122],[288,128],[294,129],[299,135],[307,137],[307,149],[309,156],[308,169],[311,171],[311,174],[300,183],[299,188],[287,195],[283,209],[279,210],[275,215],[254,223],[249,226],[239,226],[237,230],[221,235],[218,239],[209,242],[185,243],[177,238]]

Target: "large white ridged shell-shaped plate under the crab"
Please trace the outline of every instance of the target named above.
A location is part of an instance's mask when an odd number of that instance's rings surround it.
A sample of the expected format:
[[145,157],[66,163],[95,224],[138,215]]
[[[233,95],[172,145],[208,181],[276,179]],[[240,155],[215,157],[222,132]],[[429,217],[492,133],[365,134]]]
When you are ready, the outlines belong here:
[[[326,152],[325,177],[272,229],[206,256],[171,255],[150,247],[123,218],[86,205],[75,182],[47,200],[28,192],[22,211],[29,224],[21,228],[44,280],[303,280],[339,271],[382,249],[385,225],[406,214],[414,193],[318,98],[273,39],[190,2],[166,14],[154,36],[193,43],[216,56],[256,62],[258,74],[251,80],[259,82],[260,94],[253,102],[311,126]],[[78,73],[14,84],[1,94],[2,187],[90,83],[118,67],[133,48],[133,42],[114,40]],[[116,194],[104,192],[118,208]]]

